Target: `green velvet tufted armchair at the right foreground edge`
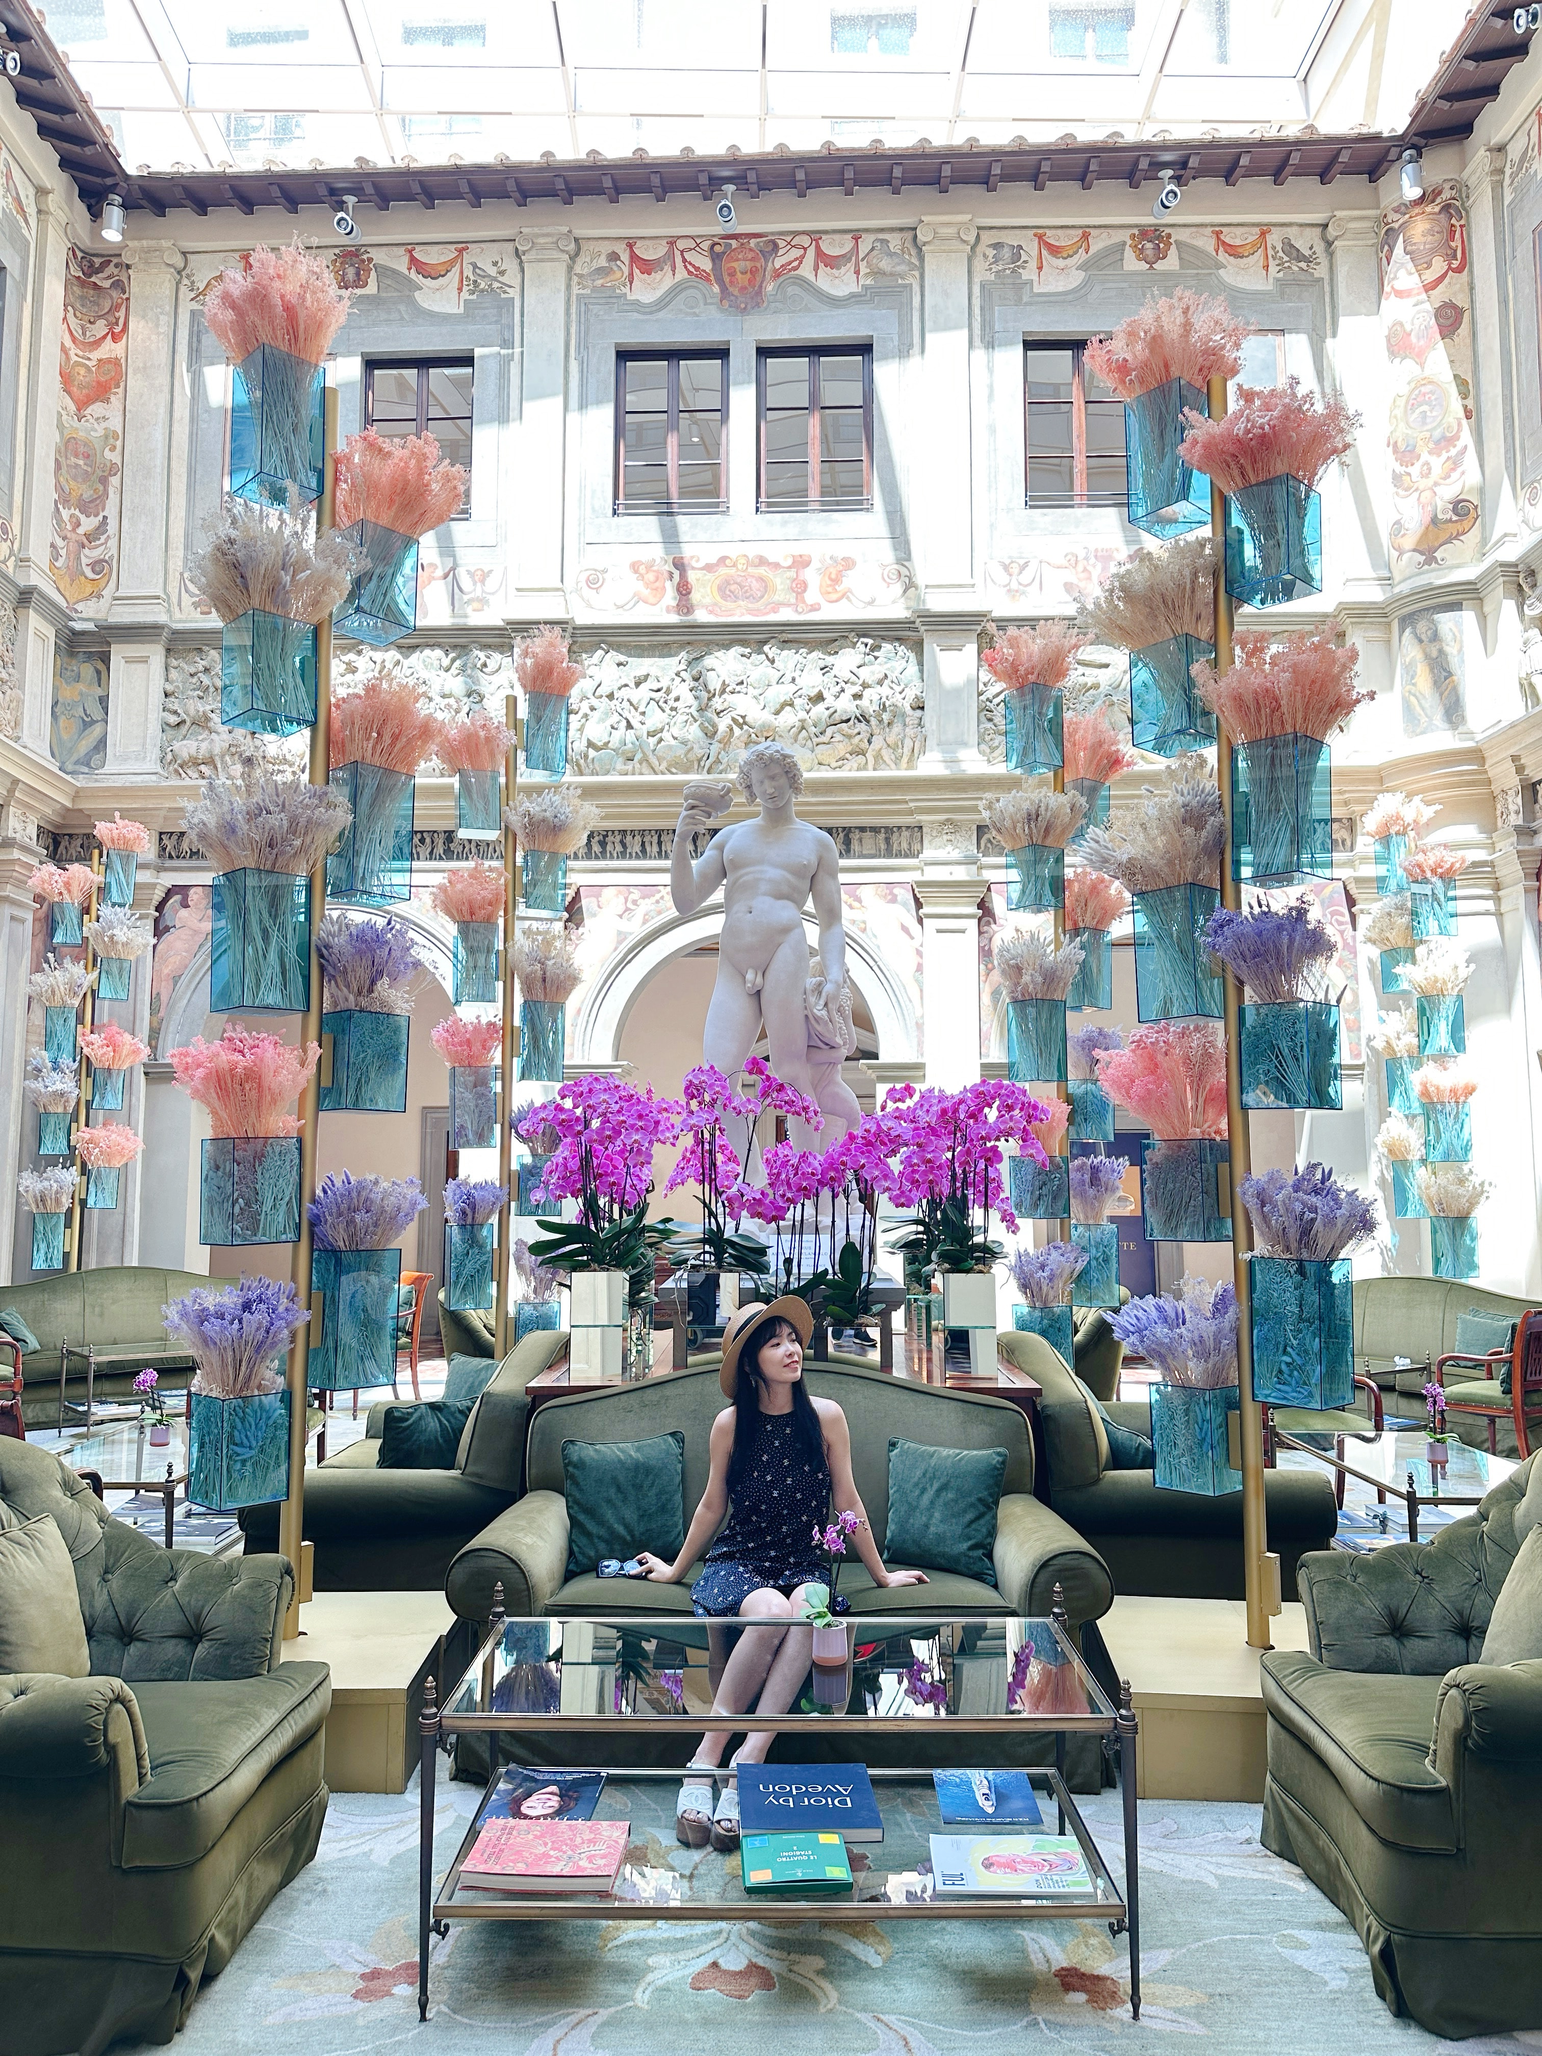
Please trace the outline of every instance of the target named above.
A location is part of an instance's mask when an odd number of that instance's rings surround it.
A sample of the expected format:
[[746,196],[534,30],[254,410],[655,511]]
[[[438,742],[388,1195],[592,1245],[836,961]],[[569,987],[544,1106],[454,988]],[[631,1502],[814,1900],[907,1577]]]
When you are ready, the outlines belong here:
[[1299,1569],[1312,1651],[1262,1657],[1262,1840],[1359,1929],[1394,2013],[1542,2029],[1542,1661],[1484,1663],[1542,1456],[1431,1542]]

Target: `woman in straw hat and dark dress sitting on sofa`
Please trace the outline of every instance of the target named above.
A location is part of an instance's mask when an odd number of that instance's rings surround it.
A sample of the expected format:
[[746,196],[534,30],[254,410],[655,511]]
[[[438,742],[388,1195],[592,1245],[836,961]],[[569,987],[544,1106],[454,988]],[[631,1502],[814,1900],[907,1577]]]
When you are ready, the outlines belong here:
[[[804,1349],[814,1332],[806,1299],[744,1306],[724,1330],[718,1373],[734,1404],[711,1423],[707,1491],[674,1563],[641,1554],[646,1577],[678,1583],[707,1542],[707,1563],[691,1587],[697,1614],[765,1620],[744,1628],[724,1661],[728,1632],[711,1628],[713,1713],[785,1713],[808,1676],[810,1628],[792,1626],[804,1614],[808,1585],[824,1583],[818,1530],[835,1509],[857,1515],[857,1552],[876,1585],[925,1585],[923,1571],[886,1571],[851,1476],[851,1431],[835,1400],[810,1398]],[[724,1515],[732,1501],[732,1517]],[[722,1534],[718,1530],[722,1528]],[[722,1643],[720,1643],[722,1637]],[[691,1770],[718,1770],[732,1729],[701,1737]],[[734,1766],[763,1764],[771,1733],[750,1733],[730,1760],[728,1783],[713,1811],[709,1778],[687,1774],[674,1828],[691,1848],[738,1846]]]

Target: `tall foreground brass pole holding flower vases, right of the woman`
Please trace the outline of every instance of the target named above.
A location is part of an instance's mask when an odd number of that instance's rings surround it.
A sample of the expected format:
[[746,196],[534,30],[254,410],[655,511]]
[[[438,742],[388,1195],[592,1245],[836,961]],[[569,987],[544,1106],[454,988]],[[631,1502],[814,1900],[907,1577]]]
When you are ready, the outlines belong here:
[[[1209,415],[1225,413],[1225,378],[1209,382]],[[1215,670],[1232,668],[1232,596],[1225,590],[1225,495],[1211,485],[1211,535],[1215,539]],[[1221,785],[1225,816],[1225,849],[1221,851],[1221,905],[1236,911],[1242,890],[1232,876],[1232,740],[1221,722],[1215,724],[1215,777]],[[1279,1612],[1279,1558],[1269,1554],[1269,1521],[1264,1517],[1264,1417],[1252,1396],[1252,1291],[1248,1252],[1252,1221],[1242,1205],[1240,1186],[1252,1170],[1248,1112],[1242,1104],[1242,1042],[1238,1036],[1240,985],[1223,975],[1225,1005],[1225,1137],[1232,1158],[1232,1279],[1238,1293],[1238,1400],[1242,1431],[1242,1575],[1248,1604],[1248,1647],[1273,1649],[1269,1616]]]

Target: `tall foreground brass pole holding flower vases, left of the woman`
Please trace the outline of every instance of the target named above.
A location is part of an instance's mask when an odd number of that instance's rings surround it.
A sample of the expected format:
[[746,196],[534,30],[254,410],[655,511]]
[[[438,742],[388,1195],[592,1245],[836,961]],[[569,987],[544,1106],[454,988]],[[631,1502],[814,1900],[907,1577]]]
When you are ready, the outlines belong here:
[[[333,526],[333,456],[337,450],[337,387],[327,380],[323,395],[323,458],[321,458],[321,506],[317,510],[317,537]],[[310,728],[310,769],[313,785],[325,785],[331,777],[331,615],[317,623],[317,720]],[[300,1047],[321,1042],[321,958],[317,956],[317,933],[327,915],[327,857],[317,857],[310,872],[310,1003],[300,1024]],[[306,1079],[300,1094],[300,1240],[294,1244],[294,1291],[300,1306],[310,1312],[310,1217],[308,1207],[317,1197],[317,1141],[321,1129],[321,1065]],[[306,1402],[310,1398],[310,1322],[296,1328],[290,1345],[290,1495],[278,1513],[278,1550],[290,1558],[294,1569],[294,1598],[284,1618],[284,1635],[300,1632],[300,1589],[304,1583],[304,1452]]]

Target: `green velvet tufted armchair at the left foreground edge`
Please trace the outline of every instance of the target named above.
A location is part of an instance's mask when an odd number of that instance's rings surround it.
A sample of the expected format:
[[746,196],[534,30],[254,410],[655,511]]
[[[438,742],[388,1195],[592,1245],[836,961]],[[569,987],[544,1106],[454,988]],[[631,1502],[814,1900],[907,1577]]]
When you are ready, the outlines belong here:
[[53,1454],[0,1439],[0,1526],[47,1513],[88,1678],[0,1678],[0,2048],[171,2042],[327,1811],[325,1663],[280,1663],[282,1556],[156,1548]]

